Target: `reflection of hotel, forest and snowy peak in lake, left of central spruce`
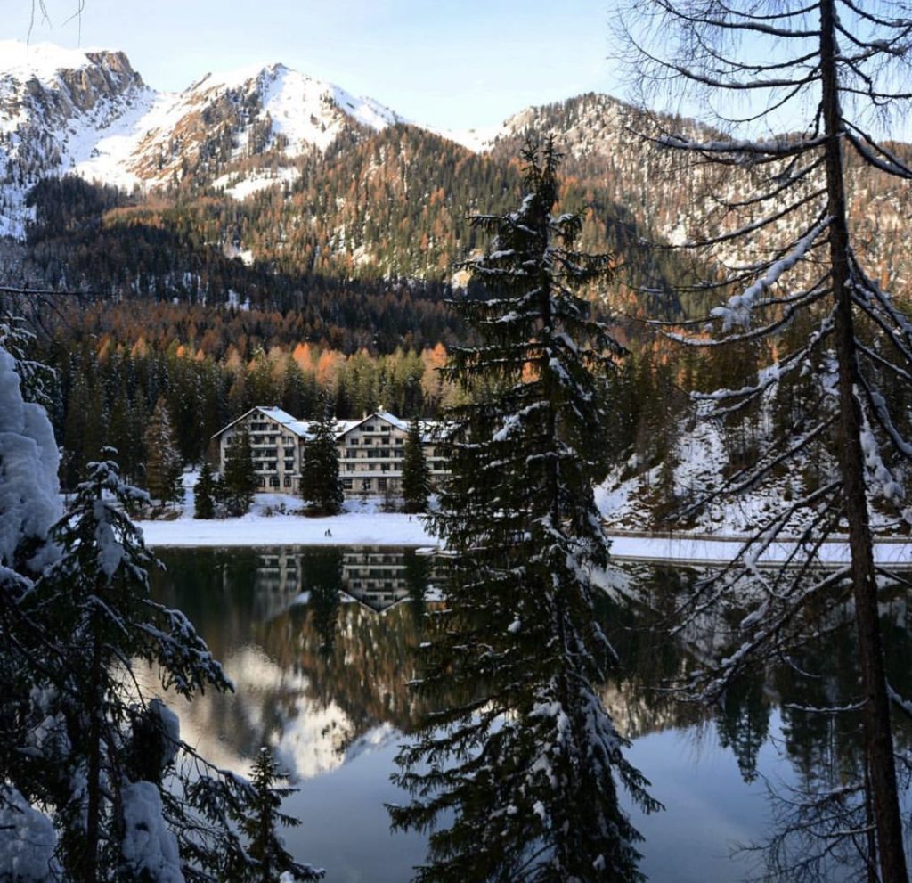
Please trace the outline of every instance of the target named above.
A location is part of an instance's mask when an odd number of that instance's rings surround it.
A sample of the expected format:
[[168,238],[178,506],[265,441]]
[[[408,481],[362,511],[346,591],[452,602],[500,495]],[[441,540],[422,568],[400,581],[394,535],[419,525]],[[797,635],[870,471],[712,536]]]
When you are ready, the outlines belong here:
[[417,719],[408,648],[429,566],[416,550],[198,549],[163,558],[156,596],[188,614],[237,688],[181,710],[185,736],[221,763],[244,771],[271,744],[292,774],[308,777]]

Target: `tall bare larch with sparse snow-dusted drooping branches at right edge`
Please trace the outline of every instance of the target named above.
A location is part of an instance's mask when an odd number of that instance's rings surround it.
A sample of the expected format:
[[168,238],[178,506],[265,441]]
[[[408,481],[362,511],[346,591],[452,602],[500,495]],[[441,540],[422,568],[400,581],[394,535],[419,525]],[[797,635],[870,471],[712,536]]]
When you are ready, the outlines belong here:
[[[648,133],[666,161],[676,157],[679,174],[711,185],[703,230],[662,247],[696,259],[691,294],[715,293],[722,302],[692,319],[696,334],[677,337],[698,347],[759,346],[770,357],[747,383],[704,394],[705,412],[743,421],[778,400],[788,413],[782,434],[764,440],[700,504],[775,486],[790,472],[814,473],[811,486],[759,517],[731,566],[701,581],[681,610],[680,628],[712,622],[718,649],[716,664],[702,666],[690,687],[716,701],[751,666],[790,665],[796,647],[826,649],[835,625],[828,617],[851,608],[859,689],[832,704],[858,714],[865,769],[854,788],[838,783],[845,815],[837,827],[848,851],[857,849],[856,828],[874,828],[876,847],[860,876],[879,866],[885,883],[907,883],[891,705],[903,716],[910,705],[888,683],[878,611],[878,583],[905,577],[876,565],[871,524],[877,510],[905,531],[912,523],[912,323],[907,292],[891,295],[881,285],[852,215],[865,210],[878,177],[912,181],[907,152],[888,140],[891,116],[907,118],[912,101],[912,4],[631,0],[618,6],[617,30],[650,103],[686,95],[715,109],[711,134],[679,115],[654,117]],[[788,129],[772,134],[780,126]],[[732,168],[743,172],[735,188]],[[853,178],[866,182],[855,193]],[[717,334],[709,339],[712,323]],[[824,542],[842,531],[848,563],[822,570]],[[759,570],[783,536],[799,540],[790,566]],[[820,795],[827,818],[831,797],[829,789]],[[819,857],[816,871],[827,876],[832,830],[802,824],[794,833],[802,867]]]

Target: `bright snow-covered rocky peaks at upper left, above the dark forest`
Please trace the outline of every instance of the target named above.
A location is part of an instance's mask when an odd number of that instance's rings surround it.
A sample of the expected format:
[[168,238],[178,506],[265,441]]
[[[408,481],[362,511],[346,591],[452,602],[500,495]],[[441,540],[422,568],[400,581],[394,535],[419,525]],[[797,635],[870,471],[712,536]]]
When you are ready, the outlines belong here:
[[188,168],[211,180],[246,160],[229,188],[244,198],[294,177],[264,173],[256,157],[290,163],[352,126],[400,121],[378,101],[280,64],[210,74],[175,94],[146,86],[122,52],[0,41],[0,235],[24,234],[26,192],[47,175],[131,188],[180,180]]

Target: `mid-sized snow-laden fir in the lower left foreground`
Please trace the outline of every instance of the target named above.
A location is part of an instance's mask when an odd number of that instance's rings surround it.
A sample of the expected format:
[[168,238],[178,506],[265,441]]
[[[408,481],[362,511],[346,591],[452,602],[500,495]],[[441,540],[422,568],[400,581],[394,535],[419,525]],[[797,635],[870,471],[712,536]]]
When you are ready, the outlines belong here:
[[123,514],[141,502],[148,495],[122,483],[115,463],[90,464],[52,531],[61,556],[22,604],[67,640],[31,671],[33,751],[13,782],[51,812],[60,864],[80,883],[183,879],[178,836],[191,825],[182,812],[166,818],[165,805],[178,805],[162,784],[183,746],[176,715],[143,696],[137,662],[186,698],[232,687],[187,618],[149,597],[156,562]]

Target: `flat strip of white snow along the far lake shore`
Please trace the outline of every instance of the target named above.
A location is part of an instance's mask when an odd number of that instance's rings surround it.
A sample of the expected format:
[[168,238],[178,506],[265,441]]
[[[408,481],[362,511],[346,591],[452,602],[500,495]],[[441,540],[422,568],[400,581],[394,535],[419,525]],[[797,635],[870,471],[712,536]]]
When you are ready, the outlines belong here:
[[[174,521],[141,521],[146,543],[156,546],[273,546],[273,545],[436,545],[419,515],[377,511],[347,512],[329,518],[261,512],[241,518],[199,521],[190,517]],[[687,535],[630,535],[623,531],[611,537],[611,555],[617,560],[720,564],[731,560],[741,543],[737,537],[709,538]],[[779,542],[758,559],[777,564],[793,552],[793,543]],[[824,544],[821,557],[827,564],[848,561],[848,544]],[[879,565],[912,567],[912,541],[875,544]]]

